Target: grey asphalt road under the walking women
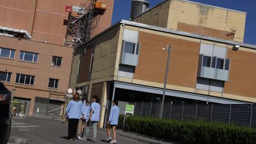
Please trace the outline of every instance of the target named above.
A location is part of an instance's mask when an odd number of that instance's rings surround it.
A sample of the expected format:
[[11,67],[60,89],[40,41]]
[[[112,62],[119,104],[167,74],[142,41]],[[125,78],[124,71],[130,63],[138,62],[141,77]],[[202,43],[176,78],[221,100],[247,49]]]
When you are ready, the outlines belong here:
[[[104,142],[107,138],[104,129],[98,129],[96,143]],[[88,138],[92,138],[93,130],[90,130]],[[150,138],[137,136],[131,133],[117,132],[117,143],[164,143]],[[28,138],[32,144],[55,144],[55,143],[92,143],[90,141],[83,142],[81,140],[70,141],[66,139],[67,124],[61,121],[41,120],[41,119],[13,119],[11,136]]]

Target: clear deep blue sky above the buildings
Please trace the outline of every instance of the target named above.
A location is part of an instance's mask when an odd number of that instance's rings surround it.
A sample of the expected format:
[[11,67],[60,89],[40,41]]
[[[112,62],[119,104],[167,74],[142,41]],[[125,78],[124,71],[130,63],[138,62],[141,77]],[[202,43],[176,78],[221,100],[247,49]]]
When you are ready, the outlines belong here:
[[[132,0],[114,0],[114,11],[112,24],[121,19],[129,20],[130,5]],[[156,6],[164,0],[148,0],[150,7]],[[190,0],[212,6],[234,9],[237,11],[247,12],[245,22],[244,43],[256,44],[256,1],[255,0]]]

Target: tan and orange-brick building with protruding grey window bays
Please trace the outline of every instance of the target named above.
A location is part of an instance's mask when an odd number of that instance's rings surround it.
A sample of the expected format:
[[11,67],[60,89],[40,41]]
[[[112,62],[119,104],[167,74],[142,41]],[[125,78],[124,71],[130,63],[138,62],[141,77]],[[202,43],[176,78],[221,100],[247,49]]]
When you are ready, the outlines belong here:
[[[166,45],[164,103],[256,102],[256,46],[242,43],[245,12],[172,0],[133,21],[121,20],[74,52],[70,87],[100,96],[100,127],[114,99],[154,101],[147,109],[160,114]],[[231,37],[229,28],[236,28]]]

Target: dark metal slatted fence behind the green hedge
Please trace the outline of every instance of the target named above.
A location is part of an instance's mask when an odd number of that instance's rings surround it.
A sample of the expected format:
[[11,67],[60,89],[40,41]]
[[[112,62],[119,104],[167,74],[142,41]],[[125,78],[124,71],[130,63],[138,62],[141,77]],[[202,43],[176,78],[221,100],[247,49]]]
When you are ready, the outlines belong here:
[[[135,116],[160,118],[161,102],[135,102]],[[255,104],[172,104],[164,102],[163,119],[221,122],[256,128]]]

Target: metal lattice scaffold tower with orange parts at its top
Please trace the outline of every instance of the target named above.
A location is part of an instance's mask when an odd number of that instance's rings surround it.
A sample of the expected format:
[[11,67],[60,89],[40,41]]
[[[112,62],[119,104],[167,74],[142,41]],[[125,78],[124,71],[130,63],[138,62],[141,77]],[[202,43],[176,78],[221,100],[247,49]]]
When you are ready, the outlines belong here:
[[79,7],[72,6],[71,9],[64,45],[75,47],[90,40],[98,33],[100,16],[106,11],[106,3],[87,0]]

